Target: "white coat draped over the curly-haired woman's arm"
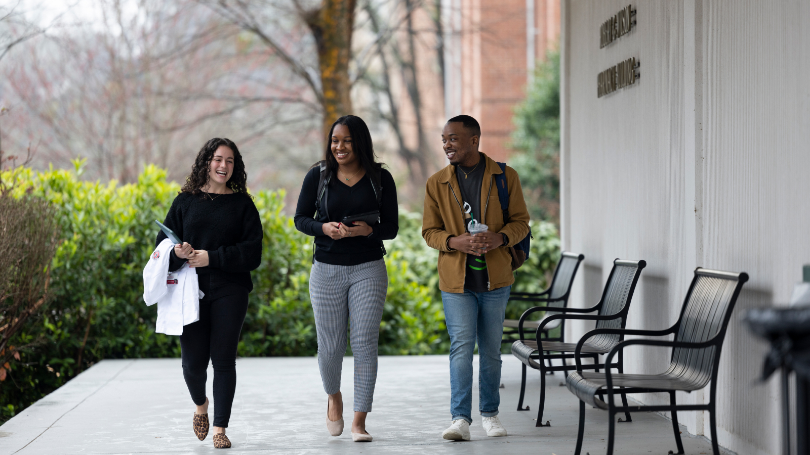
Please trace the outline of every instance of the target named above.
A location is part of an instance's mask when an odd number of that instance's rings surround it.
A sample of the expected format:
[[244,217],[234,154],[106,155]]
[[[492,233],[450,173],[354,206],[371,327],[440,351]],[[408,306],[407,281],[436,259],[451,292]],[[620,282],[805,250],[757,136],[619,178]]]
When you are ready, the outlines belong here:
[[143,301],[147,306],[157,304],[158,334],[181,335],[183,325],[199,320],[200,299],[204,295],[199,290],[197,270],[188,263],[173,272],[177,283],[168,284],[168,257],[173,248],[172,240],[164,239],[151,253],[143,268]]

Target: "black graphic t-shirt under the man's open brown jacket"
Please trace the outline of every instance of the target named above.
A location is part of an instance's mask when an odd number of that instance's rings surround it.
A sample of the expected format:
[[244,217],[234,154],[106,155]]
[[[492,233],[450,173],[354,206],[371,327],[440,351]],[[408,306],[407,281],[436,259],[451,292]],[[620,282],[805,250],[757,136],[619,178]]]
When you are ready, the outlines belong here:
[[[456,179],[458,179],[458,186],[461,188],[462,205],[464,210],[470,209],[470,214],[465,215],[467,217],[464,221],[465,225],[469,224],[471,219],[483,223],[481,188],[484,183],[484,168],[486,168],[486,162],[483,156],[478,164],[472,168],[456,166]],[[464,278],[464,289],[473,292],[489,291],[489,274],[485,255],[467,254],[467,265],[465,267],[467,273]]]

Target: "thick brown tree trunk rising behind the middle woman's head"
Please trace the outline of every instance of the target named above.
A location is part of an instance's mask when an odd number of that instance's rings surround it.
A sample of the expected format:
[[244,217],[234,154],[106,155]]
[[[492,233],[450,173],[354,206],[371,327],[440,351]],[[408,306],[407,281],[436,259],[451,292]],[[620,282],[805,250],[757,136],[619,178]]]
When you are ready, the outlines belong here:
[[352,32],[356,0],[324,0],[320,9],[305,15],[318,48],[323,91],[323,134],[332,123],[352,113],[352,81],[349,59],[352,57]]

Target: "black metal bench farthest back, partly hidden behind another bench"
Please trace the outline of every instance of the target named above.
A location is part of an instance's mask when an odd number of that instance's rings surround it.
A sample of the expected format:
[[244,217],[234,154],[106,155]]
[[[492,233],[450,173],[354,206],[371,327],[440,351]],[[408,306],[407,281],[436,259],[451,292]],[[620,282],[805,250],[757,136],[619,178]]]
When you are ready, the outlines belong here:
[[[562,252],[560,262],[557,262],[556,270],[554,270],[554,278],[552,284],[543,292],[512,292],[509,295],[509,301],[522,300],[529,302],[546,302],[549,307],[568,306],[568,297],[571,294],[571,286],[574,277],[577,276],[579,263],[585,259],[585,256],[577,253]],[[556,314],[553,312],[546,312],[545,317]],[[501,342],[514,342],[512,335],[518,335],[518,319],[505,319],[504,320],[504,335],[505,338]],[[540,321],[523,321],[524,329],[537,330]],[[560,336],[555,338],[548,338],[548,332],[560,327],[560,321],[555,320],[552,324],[546,325],[543,330],[544,339],[549,341],[562,341],[565,335],[565,327],[561,327]],[[529,410],[527,407],[525,410]]]

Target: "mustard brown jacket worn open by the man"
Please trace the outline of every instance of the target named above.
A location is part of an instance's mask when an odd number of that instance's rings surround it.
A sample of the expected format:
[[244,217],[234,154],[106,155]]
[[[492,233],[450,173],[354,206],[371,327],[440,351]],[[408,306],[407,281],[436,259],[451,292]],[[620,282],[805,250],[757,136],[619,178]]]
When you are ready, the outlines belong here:
[[[489,290],[509,286],[514,283],[512,257],[508,247],[518,244],[529,233],[529,212],[523,200],[518,172],[506,167],[506,185],[509,187],[509,223],[504,223],[498,190],[495,187],[495,175],[500,174],[501,167],[494,159],[483,153],[486,160],[484,179],[481,185],[481,207],[484,213],[482,223],[490,231],[505,233],[509,245],[501,245],[486,254]],[[455,176],[455,166],[436,172],[428,179],[424,193],[424,211],[422,218],[422,236],[428,246],[439,250],[439,289],[445,292],[464,292],[464,278],[467,273],[467,253],[450,249],[447,240],[451,236],[460,236],[467,232],[467,221],[462,209],[461,189]]]

